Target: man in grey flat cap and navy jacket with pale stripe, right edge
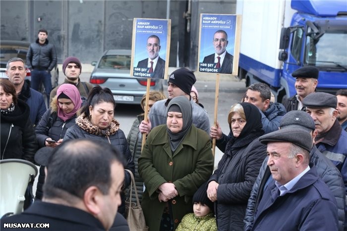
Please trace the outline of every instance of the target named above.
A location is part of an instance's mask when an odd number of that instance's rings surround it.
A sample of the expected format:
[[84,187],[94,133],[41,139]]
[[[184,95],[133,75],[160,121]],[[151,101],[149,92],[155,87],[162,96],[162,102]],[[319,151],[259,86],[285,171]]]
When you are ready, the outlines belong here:
[[[347,132],[337,120],[337,97],[325,92],[306,96],[302,104],[313,118],[318,132],[315,145],[340,170],[347,192]],[[345,206],[345,229],[347,207]]]

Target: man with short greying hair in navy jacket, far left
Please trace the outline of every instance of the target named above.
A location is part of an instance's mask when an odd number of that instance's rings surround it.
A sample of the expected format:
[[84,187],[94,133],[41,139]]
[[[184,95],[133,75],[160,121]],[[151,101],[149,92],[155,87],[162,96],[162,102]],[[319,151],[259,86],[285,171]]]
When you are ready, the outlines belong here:
[[25,64],[21,58],[10,58],[6,64],[6,75],[13,83],[18,99],[23,100],[30,108],[30,120],[35,126],[46,112],[46,105],[42,94],[30,88],[26,76]]

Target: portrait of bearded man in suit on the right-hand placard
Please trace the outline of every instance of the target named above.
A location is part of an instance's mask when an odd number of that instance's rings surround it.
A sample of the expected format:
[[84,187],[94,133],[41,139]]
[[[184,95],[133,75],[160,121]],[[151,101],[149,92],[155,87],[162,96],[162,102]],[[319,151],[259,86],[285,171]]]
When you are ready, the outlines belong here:
[[213,46],[215,53],[206,56],[203,63],[215,63],[214,68],[218,69],[218,73],[232,73],[233,56],[227,52],[228,34],[224,30],[218,30],[213,35]]

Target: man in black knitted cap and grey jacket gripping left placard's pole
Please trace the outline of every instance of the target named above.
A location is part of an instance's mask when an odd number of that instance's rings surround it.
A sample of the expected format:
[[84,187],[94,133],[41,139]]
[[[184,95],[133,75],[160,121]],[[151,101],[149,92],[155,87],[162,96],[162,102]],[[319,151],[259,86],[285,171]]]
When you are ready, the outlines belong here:
[[191,87],[196,78],[187,68],[179,68],[170,75],[168,80],[168,100],[157,101],[148,115],[148,121],[142,120],[139,126],[141,133],[149,133],[152,127],[166,124],[166,108],[171,99],[176,96],[186,96],[192,106],[193,124],[210,134],[210,120],[207,112],[196,104],[190,97]]

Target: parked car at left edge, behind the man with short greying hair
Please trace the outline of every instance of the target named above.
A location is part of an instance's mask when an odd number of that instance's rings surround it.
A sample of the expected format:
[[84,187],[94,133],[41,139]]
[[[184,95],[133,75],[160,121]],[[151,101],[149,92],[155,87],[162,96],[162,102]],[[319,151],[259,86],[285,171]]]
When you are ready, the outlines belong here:
[[[0,78],[7,78],[5,73],[6,64],[10,58],[21,58],[26,62],[26,54],[28,53],[30,43],[25,41],[10,41],[10,40],[2,40],[0,41]],[[31,80],[31,73],[29,68],[26,67],[26,79]],[[52,75],[52,88],[58,86],[59,80],[59,70],[56,65],[51,71]],[[43,84],[41,88],[41,92],[44,92]]]

